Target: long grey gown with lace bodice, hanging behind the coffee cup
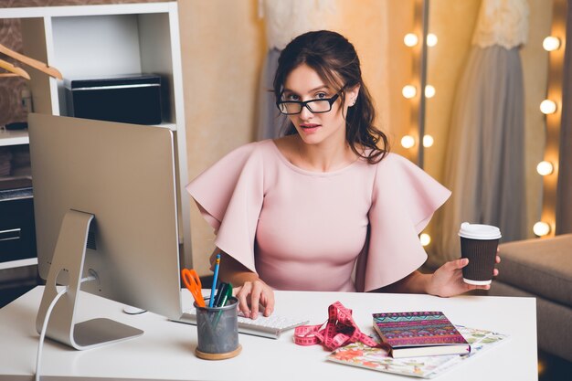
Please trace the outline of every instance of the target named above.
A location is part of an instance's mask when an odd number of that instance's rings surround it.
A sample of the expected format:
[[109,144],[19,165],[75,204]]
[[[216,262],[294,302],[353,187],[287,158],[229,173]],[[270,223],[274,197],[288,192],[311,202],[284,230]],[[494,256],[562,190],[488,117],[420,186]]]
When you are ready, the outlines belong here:
[[526,238],[524,79],[519,48],[528,35],[525,0],[483,0],[471,52],[456,90],[443,185],[438,266],[459,258],[461,222],[501,228],[502,241]]

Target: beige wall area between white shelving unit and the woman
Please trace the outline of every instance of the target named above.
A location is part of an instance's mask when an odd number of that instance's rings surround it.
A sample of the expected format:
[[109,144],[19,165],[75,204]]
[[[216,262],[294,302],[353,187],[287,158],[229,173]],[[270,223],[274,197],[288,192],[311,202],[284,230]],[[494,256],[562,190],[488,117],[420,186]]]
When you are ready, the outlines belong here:
[[[189,178],[254,136],[264,55],[257,2],[179,1]],[[214,235],[191,206],[193,266],[207,272]]]

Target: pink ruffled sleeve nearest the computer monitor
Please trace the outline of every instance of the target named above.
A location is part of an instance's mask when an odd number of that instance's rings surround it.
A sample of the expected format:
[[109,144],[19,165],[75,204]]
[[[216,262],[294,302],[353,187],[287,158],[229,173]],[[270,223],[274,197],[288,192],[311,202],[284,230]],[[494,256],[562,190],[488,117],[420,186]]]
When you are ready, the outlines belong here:
[[249,143],[228,153],[186,185],[215,229],[217,248],[254,272],[254,242],[264,196],[258,144]]

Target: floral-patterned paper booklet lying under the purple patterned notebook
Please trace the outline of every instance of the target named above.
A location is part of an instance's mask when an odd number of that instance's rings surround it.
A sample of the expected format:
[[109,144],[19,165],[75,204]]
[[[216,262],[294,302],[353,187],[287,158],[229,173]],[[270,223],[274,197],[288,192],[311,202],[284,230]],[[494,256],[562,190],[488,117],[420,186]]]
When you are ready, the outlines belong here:
[[365,344],[354,343],[336,349],[331,355],[328,355],[326,359],[336,363],[360,366],[378,372],[433,378],[451,367],[461,364],[472,356],[481,353],[483,350],[491,348],[494,344],[501,343],[508,339],[508,336],[502,333],[467,328],[462,325],[456,325],[456,327],[467,342],[471,344],[471,354],[393,358],[383,349],[371,348]]

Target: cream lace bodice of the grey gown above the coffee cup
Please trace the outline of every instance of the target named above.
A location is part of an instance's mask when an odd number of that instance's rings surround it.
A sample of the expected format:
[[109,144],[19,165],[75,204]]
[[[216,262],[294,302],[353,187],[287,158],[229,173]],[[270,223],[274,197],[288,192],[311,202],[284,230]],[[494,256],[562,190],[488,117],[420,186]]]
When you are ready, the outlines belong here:
[[507,49],[524,45],[528,39],[528,14],[526,0],[482,0],[472,44]]

